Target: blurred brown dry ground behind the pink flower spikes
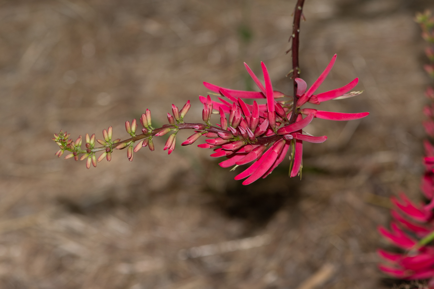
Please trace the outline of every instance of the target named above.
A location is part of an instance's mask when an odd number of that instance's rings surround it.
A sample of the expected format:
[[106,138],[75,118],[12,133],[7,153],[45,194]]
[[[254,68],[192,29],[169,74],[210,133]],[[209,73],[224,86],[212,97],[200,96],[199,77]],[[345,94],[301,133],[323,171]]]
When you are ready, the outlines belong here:
[[[420,200],[423,92],[429,79],[414,13],[431,0],[306,0],[301,76],[338,58],[318,92],[355,77],[355,98],[322,110],[328,135],[306,144],[302,179],[288,162],[249,186],[210,151],[144,148],[129,162],[54,156],[60,129],[114,128],[150,108],[167,122],[190,99],[201,121],[203,81],[256,89],[243,62],[275,89],[285,75],[294,0],[3,0],[0,2],[0,287],[6,289],[391,288],[376,269],[376,228],[388,197]],[[313,107],[313,106],[312,106]],[[217,118],[214,120],[217,122]],[[186,138],[188,132],[178,135]],[[411,286],[408,286],[411,288]]]

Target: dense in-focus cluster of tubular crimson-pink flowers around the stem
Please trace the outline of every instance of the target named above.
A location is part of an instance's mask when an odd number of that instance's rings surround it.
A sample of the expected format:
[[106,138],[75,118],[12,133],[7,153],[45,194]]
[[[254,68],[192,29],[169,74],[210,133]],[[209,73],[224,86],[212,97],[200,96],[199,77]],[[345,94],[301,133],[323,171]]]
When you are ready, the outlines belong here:
[[[339,89],[317,95],[313,94],[329,74],[335,60],[336,55],[333,56],[324,72],[309,89],[307,89],[307,84],[303,79],[295,79],[298,84],[298,101],[295,108],[292,105],[291,96],[273,90],[270,74],[263,62],[261,62],[261,68],[265,85],[256,77],[252,69],[244,63],[247,72],[258,86],[260,92],[227,89],[204,82],[207,89],[220,95],[218,97],[219,102],[214,100],[211,102],[215,109],[220,110],[220,127],[227,127],[227,131],[230,131],[230,138],[215,138],[215,141],[207,141],[207,144],[201,144],[200,146],[202,148],[214,148],[216,152],[211,156],[226,156],[228,159],[220,163],[221,167],[238,166],[255,161],[235,177],[236,180],[247,178],[243,181],[244,185],[251,184],[260,177],[264,178],[270,174],[283,161],[286,153],[291,148],[293,166],[290,176],[297,176],[302,164],[302,142],[321,143],[327,139],[327,136],[314,137],[302,134],[302,129],[309,125],[313,118],[346,121],[363,118],[369,114],[368,112],[340,113],[301,108],[306,102],[318,105],[328,100],[345,99],[361,93],[348,93],[357,85],[358,79],[356,78]],[[209,96],[207,98],[200,96],[199,99],[204,104],[210,103]],[[266,104],[258,104],[254,101],[253,105],[250,105],[244,102],[243,99],[265,99]],[[290,123],[289,119],[294,111],[297,114],[296,122]],[[225,114],[229,115],[228,119]],[[302,118],[302,115],[306,115],[306,118]],[[215,136],[208,134],[207,137]],[[231,145],[232,143],[234,145]],[[218,146],[221,146],[221,148],[216,148]],[[266,150],[267,147],[269,147],[268,150]],[[293,151],[294,149],[295,151]]]

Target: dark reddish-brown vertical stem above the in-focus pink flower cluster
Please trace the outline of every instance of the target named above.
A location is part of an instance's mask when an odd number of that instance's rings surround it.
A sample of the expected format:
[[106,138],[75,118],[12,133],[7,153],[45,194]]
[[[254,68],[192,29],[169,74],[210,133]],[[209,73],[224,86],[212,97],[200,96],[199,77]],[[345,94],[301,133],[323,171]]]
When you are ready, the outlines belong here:
[[293,85],[294,85],[294,104],[293,104],[293,114],[291,115],[291,119],[289,120],[289,123],[294,123],[297,118],[297,82],[295,79],[300,76],[300,69],[299,69],[299,59],[298,59],[298,53],[299,53],[299,34],[300,34],[300,19],[301,14],[303,11],[303,4],[304,0],[297,0],[296,8],[294,10],[294,23],[293,23],[293,46],[292,46],[292,57],[293,57]]

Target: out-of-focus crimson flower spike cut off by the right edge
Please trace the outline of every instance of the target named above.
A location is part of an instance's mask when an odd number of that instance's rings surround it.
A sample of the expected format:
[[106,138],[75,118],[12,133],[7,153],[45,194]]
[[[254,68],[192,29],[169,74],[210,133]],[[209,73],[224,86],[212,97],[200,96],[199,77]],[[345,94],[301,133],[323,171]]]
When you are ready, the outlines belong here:
[[[425,51],[431,60],[430,67],[433,67],[434,58],[434,17],[431,12],[418,13],[416,21],[420,23],[423,30],[422,36],[430,46]],[[431,36],[430,36],[431,35]],[[427,66],[425,66],[426,68]],[[434,80],[434,74],[426,69],[428,75]],[[428,87],[426,96],[431,100],[431,105],[424,107],[424,114],[428,120],[423,122],[428,136],[434,138],[434,89]],[[384,273],[398,279],[415,280],[429,279],[428,287],[434,288],[434,146],[431,141],[424,141],[425,157],[423,164],[425,173],[421,178],[421,191],[428,200],[426,204],[413,204],[405,194],[400,195],[398,200],[391,198],[394,208],[391,210],[393,221],[391,231],[384,227],[378,230],[382,236],[388,239],[395,246],[404,250],[403,253],[391,253],[385,250],[378,250],[378,254],[388,264],[381,264],[379,268]]]

